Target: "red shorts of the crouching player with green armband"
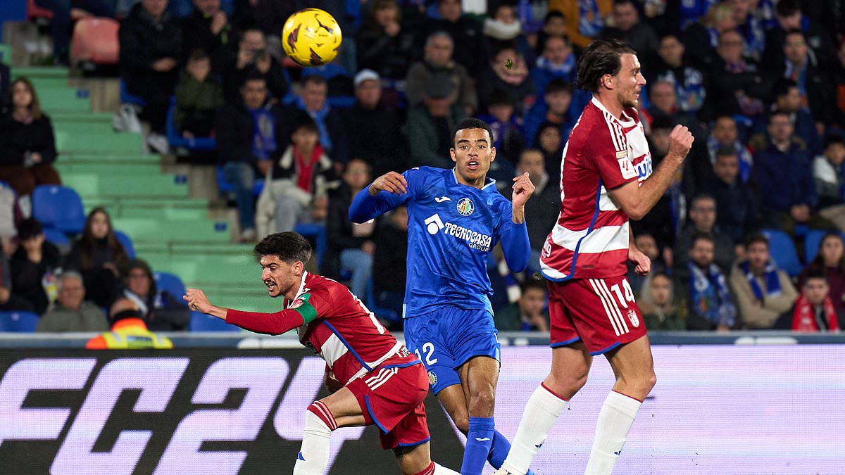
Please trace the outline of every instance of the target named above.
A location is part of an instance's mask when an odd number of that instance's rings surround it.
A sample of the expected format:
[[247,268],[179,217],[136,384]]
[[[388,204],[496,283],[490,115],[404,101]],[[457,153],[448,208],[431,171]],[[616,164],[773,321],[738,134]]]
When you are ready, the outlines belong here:
[[411,447],[431,439],[423,404],[428,374],[419,360],[404,368],[384,364],[346,387],[358,400],[367,425],[379,427],[382,449]]

